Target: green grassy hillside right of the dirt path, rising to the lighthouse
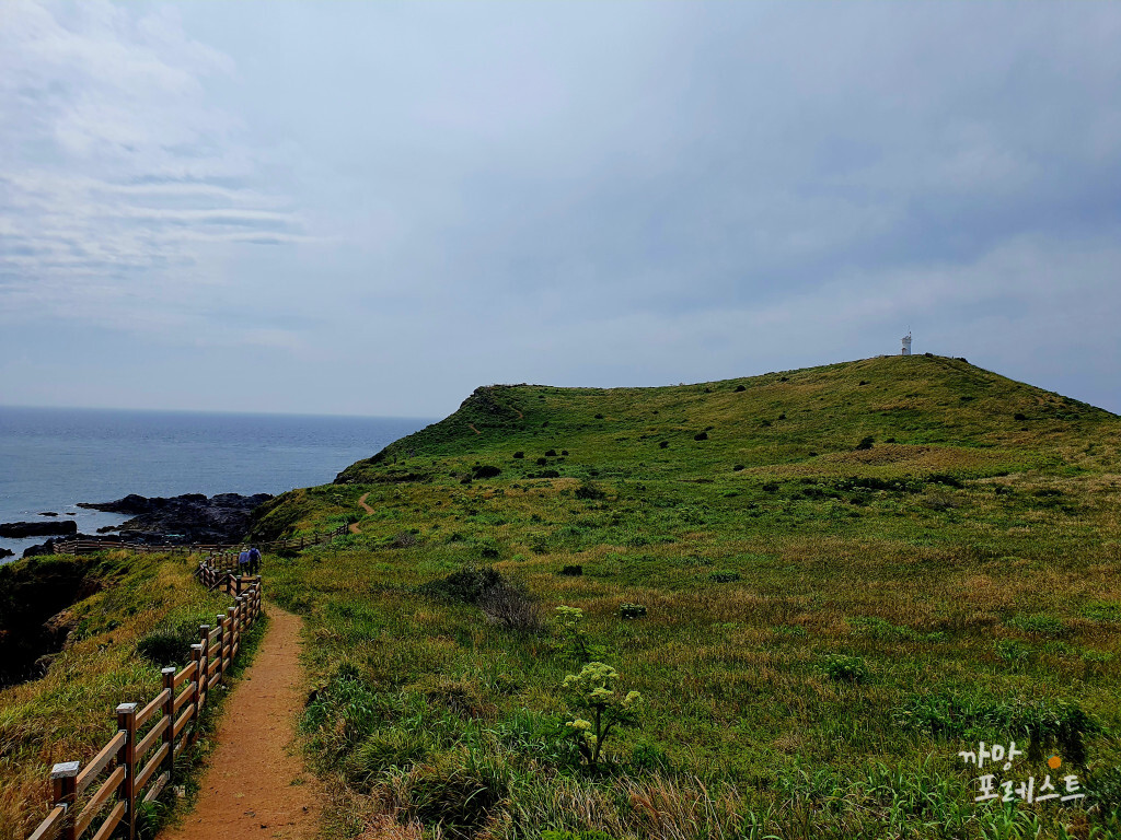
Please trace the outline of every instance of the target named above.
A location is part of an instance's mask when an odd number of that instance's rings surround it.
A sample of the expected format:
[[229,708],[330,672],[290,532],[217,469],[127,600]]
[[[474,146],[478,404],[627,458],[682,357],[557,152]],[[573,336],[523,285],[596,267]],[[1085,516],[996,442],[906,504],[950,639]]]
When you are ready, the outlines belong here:
[[[937,356],[481,388],[260,512],[360,530],[268,564],[308,618],[331,830],[1121,837],[1119,444]],[[594,762],[589,661],[641,694]],[[1086,797],[974,802],[958,752],[1012,739],[1001,780],[1055,755]]]

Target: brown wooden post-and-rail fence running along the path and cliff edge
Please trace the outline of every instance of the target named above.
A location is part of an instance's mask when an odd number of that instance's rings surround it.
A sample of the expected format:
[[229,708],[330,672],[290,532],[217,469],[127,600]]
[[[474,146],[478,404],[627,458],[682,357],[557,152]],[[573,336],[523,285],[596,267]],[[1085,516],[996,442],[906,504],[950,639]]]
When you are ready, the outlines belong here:
[[[295,540],[257,543],[263,548],[303,549],[346,533],[333,531]],[[92,543],[104,551],[169,551],[172,547]],[[56,553],[85,553],[82,541],[55,545]],[[66,547],[59,551],[62,547]],[[50,812],[28,840],[81,840],[92,830],[92,840],[108,840],[119,828],[133,840],[137,809],[151,802],[175,781],[175,759],[198,737],[198,719],[210,692],[233,664],[242,634],[261,615],[261,577],[238,575],[240,545],[174,547],[174,551],[211,551],[198,562],[195,575],[211,590],[222,588],[234,605],[198,626],[198,642],[191,646],[191,663],[180,670],[160,672],[163,689],[147,706],[117,707],[117,734],[83,767],[81,762],[56,764],[50,772]],[[89,791],[93,793],[87,793]],[[78,806],[81,805],[81,810]],[[108,809],[108,813],[105,812]]]

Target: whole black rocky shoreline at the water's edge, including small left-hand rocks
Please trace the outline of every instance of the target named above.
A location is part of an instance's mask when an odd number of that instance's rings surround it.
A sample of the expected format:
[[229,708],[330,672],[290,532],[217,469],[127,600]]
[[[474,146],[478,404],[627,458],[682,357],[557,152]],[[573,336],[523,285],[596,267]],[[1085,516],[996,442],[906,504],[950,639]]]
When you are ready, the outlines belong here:
[[[39,536],[53,534],[46,542],[31,545],[24,557],[49,554],[56,542],[68,539],[95,540],[112,544],[139,542],[146,545],[188,545],[191,543],[238,542],[249,532],[253,511],[272,496],[257,493],[219,493],[206,497],[202,493],[180,496],[139,496],[129,494],[113,502],[80,502],[78,507],[105,513],[130,515],[127,522],[98,529],[98,534],[82,534],[68,520],[47,522],[9,522],[0,524],[13,533],[10,536]],[[115,534],[110,532],[115,531]]]

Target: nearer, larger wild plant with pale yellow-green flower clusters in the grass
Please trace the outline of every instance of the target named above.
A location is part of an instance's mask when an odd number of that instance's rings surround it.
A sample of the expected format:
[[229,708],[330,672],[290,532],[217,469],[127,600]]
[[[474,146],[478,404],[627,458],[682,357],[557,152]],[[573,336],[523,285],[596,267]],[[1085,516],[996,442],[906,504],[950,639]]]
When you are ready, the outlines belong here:
[[594,767],[611,731],[619,726],[637,726],[642,696],[626,694],[618,688],[619,672],[603,662],[589,662],[578,674],[564,678],[562,689],[568,703],[565,736],[573,738],[581,757]]

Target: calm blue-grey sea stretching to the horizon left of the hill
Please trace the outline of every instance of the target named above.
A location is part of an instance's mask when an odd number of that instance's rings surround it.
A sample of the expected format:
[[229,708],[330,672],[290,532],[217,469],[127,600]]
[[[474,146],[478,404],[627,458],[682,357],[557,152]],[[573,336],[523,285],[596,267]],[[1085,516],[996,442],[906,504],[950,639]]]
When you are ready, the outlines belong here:
[[[0,407],[0,522],[72,519],[82,533],[127,516],[77,507],[129,493],[271,493],[328,484],[424,418]],[[45,516],[55,513],[57,516]],[[46,536],[9,539],[18,558]]]

